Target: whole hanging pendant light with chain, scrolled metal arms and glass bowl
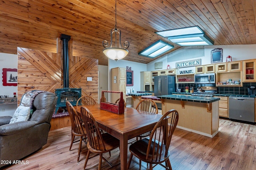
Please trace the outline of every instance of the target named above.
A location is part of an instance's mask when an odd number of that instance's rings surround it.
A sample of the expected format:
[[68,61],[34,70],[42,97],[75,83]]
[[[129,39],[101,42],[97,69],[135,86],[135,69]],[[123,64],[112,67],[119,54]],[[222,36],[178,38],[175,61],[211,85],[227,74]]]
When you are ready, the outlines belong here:
[[[115,18],[116,18],[116,4],[115,4]],[[104,40],[102,45],[105,49],[103,49],[103,53],[112,60],[118,61],[123,59],[128,55],[129,51],[127,50],[129,47],[129,42],[124,42],[124,47],[121,45],[121,30],[117,29],[116,25],[115,28],[111,29],[111,42],[110,44],[108,41]],[[115,42],[113,41],[115,39]]]

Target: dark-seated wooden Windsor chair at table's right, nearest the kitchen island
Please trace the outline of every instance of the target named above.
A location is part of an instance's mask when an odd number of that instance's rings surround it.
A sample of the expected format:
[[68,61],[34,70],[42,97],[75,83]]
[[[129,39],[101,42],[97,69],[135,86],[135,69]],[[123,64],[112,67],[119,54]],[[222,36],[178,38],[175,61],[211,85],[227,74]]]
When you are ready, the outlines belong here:
[[[136,156],[138,159],[150,164],[150,170],[158,164],[166,169],[172,170],[169,160],[169,147],[178,119],[178,111],[174,109],[169,110],[156,123],[149,138],[144,138],[130,145],[129,150],[131,154],[128,160],[127,169],[130,167],[132,157]],[[163,162],[166,164],[163,165]],[[154,166],[152,164],[154,164]]]

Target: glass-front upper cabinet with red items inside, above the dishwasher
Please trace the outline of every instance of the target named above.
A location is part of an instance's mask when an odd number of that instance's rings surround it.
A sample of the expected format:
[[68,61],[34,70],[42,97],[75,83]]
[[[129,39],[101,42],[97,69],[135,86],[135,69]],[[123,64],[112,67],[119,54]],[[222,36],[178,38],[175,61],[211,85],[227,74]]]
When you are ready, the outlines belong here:
[[243,63],[244,82],[255,82],[255,60],[246,60]]

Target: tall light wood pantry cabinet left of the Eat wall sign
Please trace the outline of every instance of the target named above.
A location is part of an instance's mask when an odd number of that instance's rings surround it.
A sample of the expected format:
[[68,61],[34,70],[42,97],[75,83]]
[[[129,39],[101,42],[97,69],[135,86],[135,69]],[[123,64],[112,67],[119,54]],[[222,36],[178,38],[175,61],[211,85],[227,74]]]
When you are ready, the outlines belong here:
[[[124,100],[126,100],[126,69],[112,68],[112,91],[123,92]],[[118,93],[112,93],[112,103],[119,98]]]

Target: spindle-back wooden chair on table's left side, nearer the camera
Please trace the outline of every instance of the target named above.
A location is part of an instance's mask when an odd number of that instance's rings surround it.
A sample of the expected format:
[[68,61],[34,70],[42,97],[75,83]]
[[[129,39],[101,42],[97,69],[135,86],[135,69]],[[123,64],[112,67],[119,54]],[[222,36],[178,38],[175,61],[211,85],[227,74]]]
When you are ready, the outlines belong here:
[[80,108],[80,113],[82,120],[84,121],[88,143],[87,148],[88,152],[86,155],[86,159],[84,162],[84,169],[86,168],[86,164],[88,162],[90,152],[99,154],[99,165],[98,170],[101,169],[102,159],[111,167],[113,167],[107,160],[102,156],[103,153],[110,152],[113,149],[116,149],[120,146],[120,141],[110,135],[109,133],[101,133],[100,128],[98,127],[98,123],[95,121],[94,117],[90,113],[90,111],[82,106]]

